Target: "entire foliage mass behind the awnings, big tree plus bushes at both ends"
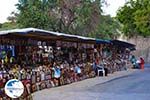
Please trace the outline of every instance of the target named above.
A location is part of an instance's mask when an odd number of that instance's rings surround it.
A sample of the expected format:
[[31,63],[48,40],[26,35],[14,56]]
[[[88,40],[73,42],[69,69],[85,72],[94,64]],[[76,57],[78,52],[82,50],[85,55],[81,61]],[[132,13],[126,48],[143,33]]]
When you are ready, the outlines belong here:
[[2,29],[34,27],[95,38],[114,38],[120,28],[102,15],[105,0],[19,0],[19,13],[8,17]]

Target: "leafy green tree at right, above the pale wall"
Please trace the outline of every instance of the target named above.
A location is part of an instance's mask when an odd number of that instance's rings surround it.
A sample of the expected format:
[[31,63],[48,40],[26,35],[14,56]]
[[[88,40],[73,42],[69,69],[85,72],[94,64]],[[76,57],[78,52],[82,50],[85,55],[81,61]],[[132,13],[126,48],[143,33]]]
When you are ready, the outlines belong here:
[[117,19],[127,36],[150,36],[150,1],[130,0],[118,10]]

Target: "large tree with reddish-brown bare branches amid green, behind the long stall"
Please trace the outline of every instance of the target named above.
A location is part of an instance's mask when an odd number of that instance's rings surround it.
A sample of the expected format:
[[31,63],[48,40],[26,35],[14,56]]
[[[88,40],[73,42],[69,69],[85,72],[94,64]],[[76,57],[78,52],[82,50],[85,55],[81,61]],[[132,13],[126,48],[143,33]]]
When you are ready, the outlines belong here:
[[100,0],[19,0],[17,23],[21,27],[87,35],[96,28],[100,3]]

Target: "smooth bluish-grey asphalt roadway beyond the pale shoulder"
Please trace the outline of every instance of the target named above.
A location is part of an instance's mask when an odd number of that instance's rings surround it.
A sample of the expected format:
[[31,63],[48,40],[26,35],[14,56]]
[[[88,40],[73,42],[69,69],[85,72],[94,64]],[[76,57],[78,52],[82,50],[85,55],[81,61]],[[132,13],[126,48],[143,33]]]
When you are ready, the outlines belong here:
[[99,93],[99,100],[150,100],[150,69],[97,84],[87,91]]

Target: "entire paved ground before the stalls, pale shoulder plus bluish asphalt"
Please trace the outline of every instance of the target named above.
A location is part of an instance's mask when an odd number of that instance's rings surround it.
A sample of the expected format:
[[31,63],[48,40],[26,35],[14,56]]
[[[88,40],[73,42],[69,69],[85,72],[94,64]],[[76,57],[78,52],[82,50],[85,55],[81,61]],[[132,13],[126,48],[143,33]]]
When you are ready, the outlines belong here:
[[[94,81],[93,81],[94,82]],[[78,84],[78,83],[77,83]],[[84,83],[85,85],[88,83]],[[89,83],[91,84],[91,83]],[[68,88],[68,89],[67,89]],[[71,88],[71,89],[70,89]],[[84,88],[44,90],[34,100],[150,100],[150,68]]]

